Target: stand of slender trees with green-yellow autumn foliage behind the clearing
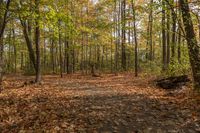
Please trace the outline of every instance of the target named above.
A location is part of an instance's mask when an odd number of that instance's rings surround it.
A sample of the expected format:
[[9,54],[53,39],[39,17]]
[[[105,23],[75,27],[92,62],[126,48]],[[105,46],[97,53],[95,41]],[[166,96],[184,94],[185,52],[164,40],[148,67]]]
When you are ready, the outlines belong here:
[[180,10],[175,0],[16,0],[12,13],[9,0],[0,2],[0,76],[3,51],[5,72],[34,74],[36,82],[41,74],[79,71],[179,75],[189,71],[190,56],[198,84],[200,16],[190,15],[187,1],[180,0]]

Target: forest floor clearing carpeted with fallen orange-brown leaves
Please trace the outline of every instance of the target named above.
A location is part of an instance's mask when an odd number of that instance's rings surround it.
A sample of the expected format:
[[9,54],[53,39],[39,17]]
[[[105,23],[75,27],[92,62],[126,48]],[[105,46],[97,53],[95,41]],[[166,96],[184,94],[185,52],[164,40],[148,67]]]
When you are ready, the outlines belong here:
[[8,76],[0,94],[0,132],[200,132],[200,98],[190,87],[157,88],[153,77],[79,74]]

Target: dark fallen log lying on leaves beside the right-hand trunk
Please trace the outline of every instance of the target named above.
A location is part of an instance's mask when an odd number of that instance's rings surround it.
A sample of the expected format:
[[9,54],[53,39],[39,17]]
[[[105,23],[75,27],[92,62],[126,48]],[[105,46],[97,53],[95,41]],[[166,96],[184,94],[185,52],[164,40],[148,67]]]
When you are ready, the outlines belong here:
[[182,75],[156,80],[156,85],[163,89],[176,89],[186,85],[188,82],[190,82],[189,77]]

